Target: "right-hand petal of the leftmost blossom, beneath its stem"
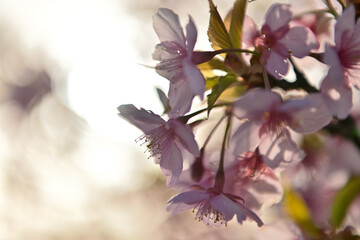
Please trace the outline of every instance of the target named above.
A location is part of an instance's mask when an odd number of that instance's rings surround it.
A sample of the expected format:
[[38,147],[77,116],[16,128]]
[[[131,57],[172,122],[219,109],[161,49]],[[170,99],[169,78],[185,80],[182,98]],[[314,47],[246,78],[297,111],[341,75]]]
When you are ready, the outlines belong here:
[[177,141],[179,141],[185,149],[194,154],[195,157],[198,157],[200,155],[199,147],[195,141],[194,134],[189,127],[175,119],[170,119],[168,124],[178,136]]

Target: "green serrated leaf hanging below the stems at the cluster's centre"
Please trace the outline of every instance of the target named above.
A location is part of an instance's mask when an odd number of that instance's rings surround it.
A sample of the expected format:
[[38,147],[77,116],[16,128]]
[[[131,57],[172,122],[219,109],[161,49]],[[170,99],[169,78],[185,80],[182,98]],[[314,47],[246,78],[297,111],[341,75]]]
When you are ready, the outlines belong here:
[[213,78],[212,81],[216,81],[217,83],[213,86],[211,93],[208,97],[208,115],[210,114],[211,109],[213,108],[216,100],[220,97],[220,95],[234,82],[237,81],[237,77],[235,75],[226,75],[223,77]]

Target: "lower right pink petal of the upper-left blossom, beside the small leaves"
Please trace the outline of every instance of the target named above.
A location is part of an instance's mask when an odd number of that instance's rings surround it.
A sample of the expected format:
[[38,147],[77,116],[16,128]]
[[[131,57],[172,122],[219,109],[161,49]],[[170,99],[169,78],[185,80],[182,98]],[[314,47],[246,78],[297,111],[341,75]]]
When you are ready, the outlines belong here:
[[190,58],[185,58],[183,60],[183,69],[185,73],[186,80],[189,82],[190,88],[188,91],[193,92],[194,95],[198,95],[201,100],[204,99],[205,92],[205,78],[196,67],[195,64],[191,62]]

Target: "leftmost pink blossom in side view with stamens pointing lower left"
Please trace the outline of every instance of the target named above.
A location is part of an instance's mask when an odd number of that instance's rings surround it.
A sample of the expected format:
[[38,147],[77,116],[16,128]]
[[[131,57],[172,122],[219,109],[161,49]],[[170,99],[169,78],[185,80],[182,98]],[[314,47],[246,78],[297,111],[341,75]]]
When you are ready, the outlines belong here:
[[121,117],[144,132],[137,141],[144,141],[151,156],[159,158],[160,167],[168,177],[168,185],[176,183],[183,169],[181,151],[199,155],[192,131],[177,119],[166,122],[159,115],[139,110],[131,104],[121,105],[118,110]]

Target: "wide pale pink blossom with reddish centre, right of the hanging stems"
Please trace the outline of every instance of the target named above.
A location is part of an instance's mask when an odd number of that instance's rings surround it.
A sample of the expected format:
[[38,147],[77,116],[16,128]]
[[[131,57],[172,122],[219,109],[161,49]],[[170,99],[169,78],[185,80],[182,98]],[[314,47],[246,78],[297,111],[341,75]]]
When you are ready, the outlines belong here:
[[290,130],[301,134],[314,133],[331,120],[320,94],[283,102],[277,93],[262,89],[248,91],[237,100],[233,114],[243,120],[232,136],[234,154],[258,148],[273,168],[281,161],[304,157]]

